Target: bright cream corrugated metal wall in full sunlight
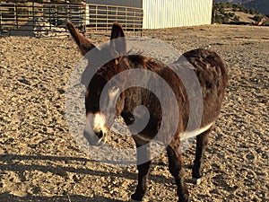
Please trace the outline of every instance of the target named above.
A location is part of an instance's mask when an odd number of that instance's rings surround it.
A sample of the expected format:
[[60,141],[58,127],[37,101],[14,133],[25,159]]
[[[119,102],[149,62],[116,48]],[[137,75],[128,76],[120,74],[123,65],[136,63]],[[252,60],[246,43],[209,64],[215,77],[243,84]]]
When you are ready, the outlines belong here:
[[210,24],[213,0],[143,0],[143,29]]

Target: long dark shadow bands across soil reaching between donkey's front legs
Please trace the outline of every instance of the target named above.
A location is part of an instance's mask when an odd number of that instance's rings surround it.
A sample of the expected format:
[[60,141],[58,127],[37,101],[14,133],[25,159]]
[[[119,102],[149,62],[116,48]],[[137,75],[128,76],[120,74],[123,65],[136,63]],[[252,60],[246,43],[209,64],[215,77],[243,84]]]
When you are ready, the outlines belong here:
[[[29,164],[21,164],[17,161],[31,161]],[[41,165],[39,162],[65,162],[63,165]],[[65,157],[65,156],[49,156],[49,155],[16,155],[16,154],[0,154],[0,171],[16,171],[23,173],[24,171],[42,171],[51,172],[53,174],[66,177],[67,172],[73,172],[77,174],[88,174],[92,176],[111,176],[117,178],[125,178],[129,180],[136,180],[137,176],[134,172],[121,171],[120,173],[111,173],[108,171],[94,171],[90,168],[74,168],[68,166],[69,162],[97,162],[80,157]],[[101,163],[101,162],[100,162]],[[152,163],[153,166],[167,166],[165,164]],[[167,179],[164,176],[150,174],[150,180],[154,180],[158,183],[171,183],[172,178]],[[1,201],[1,200],[0,200]]]

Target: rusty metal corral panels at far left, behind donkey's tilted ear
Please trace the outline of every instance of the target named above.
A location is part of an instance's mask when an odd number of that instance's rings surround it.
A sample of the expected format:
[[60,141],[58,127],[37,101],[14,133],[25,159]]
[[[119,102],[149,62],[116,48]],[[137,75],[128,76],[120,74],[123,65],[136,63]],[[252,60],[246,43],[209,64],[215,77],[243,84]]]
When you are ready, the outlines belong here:
[[72,21],[85,32],[85,4],[1,3],[0,34],[11,31],[65,32],[65,22]]

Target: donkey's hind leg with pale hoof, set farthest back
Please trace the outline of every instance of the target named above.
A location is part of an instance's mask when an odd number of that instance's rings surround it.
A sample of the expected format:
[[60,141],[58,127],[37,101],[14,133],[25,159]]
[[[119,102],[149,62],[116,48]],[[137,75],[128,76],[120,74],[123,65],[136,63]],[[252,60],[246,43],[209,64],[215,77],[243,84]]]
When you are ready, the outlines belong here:
[[196,136],[196,152],[195,152],[195,164],[192,171],[193,179],[195,184],[200,184],[202,179],[202,163],[204,158],[205,147],[208,143],[208,135],[213,130],[213,127],[210,127],[204,133]]

